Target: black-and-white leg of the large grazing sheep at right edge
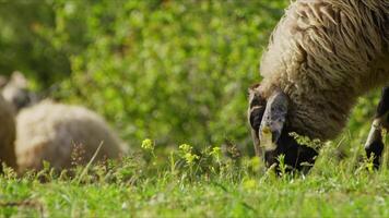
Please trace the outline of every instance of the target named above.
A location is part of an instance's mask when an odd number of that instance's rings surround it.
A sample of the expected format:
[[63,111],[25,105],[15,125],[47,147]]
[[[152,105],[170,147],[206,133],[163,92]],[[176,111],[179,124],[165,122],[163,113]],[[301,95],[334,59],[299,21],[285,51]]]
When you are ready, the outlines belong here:
[[381,99],[379,100],[375,119],[368,134],[365,150],[368,158],[373,156],[373,164],[375,168],[379,167],[379,159],[384,149],[382,129],[388,130],[388,114],[389,114],[389,86],[382,89]]

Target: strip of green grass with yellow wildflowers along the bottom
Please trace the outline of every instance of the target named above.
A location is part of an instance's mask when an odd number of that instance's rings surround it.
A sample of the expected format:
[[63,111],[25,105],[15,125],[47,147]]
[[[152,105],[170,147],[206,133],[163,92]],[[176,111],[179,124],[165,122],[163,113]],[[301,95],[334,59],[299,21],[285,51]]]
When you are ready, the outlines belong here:
[[[158,157],[152,141],[120,161],[58,173],[0,177],[2,217],[387,217],[389,170],[373,170],[363,150],[326,144],[308,174],[275,175],[257,158],[227,158],[219,147],[181,145]],[[362,147],[361,147],[362,148]],[[387,159],[387,156],[385,157]],[[69,173],[70,172],[70,173]],[[72,174],[72,177],[70,175]],[[82,175],[82,177],[81,177]],[[44,181],[44,182],[43,182]]]

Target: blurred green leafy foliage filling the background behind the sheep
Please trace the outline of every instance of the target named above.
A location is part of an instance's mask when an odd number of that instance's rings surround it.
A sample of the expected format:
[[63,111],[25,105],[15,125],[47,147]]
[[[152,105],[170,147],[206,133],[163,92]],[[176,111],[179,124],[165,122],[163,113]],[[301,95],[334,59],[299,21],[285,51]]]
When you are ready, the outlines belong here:
[[129,144],[247,146],[247,87],[287,4],[0,0],[0,72],[58,87],[52,97],[104,114]]

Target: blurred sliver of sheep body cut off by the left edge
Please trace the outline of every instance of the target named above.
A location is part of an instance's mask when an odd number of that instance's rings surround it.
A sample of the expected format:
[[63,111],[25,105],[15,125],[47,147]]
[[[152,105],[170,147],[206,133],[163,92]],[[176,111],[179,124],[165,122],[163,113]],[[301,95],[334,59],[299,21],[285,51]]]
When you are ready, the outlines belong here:
[[[12,107],[0,95],[0,164],[16,169],[16,157],[14,150],[15,120]],[[2,171],[2,167],[0,167]]]

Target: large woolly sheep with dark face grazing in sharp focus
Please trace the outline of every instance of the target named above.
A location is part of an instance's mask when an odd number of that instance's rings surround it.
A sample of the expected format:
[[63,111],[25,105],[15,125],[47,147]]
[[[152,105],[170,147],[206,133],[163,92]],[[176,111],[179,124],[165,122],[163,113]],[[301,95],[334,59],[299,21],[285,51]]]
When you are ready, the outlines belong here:
[[[257,155],[268,165],[280,154],[292,168],[313,164],[317,152],[297,145],[290,133],[333,140],[357,97],[389,85],[389,0],[294,1],[270,37],[260,73],[248,109]],[[386,88],[365,145],[376,166],[388,111]],[[269,132],[276,146],[263,149]]]

